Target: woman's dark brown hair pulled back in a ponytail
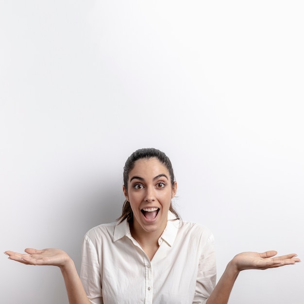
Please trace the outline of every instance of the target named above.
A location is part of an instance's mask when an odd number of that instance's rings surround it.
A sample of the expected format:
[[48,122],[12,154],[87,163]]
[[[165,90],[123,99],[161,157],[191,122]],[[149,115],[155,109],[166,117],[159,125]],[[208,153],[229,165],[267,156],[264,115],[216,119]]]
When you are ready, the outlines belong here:
[[[129,156],[129,158],[127,159],[127,161],[125,163],[125,166],[123,167],[123,184],[124,184],[125,189],[128,189],[129,174],[130,174],[130,171],[134,168],[135,162],[138,159],[142,159],[142,158],[149,159],[149,158],[153,158],[153,157],[158,159],[161,164],[166,166],[166,168],[168,169],[169,174],[170,174],[171,185],[172,185],[172,187],[174,187],[174,173],[173,173],[173,168],[172,168],[172,164],[169,160],[169,157],[164,152],[161,152],[157,149],[144,148],[144,149],[139,149],[139,150],[136,150],[135,152],[133,152]],[[169,210],[176,216],[177,219],[180,218],[178,213],[174,210],[172,203],[170,203]],[[123,203],[122,213],[121,213],[121,216],[118,218],[118,220],[120,220],[120,222],[121,222],[125,219],[127,219],[128,222],[133,221],[133,211],[131,209],[130,202],[128,202],[127,200],[125,200]]]

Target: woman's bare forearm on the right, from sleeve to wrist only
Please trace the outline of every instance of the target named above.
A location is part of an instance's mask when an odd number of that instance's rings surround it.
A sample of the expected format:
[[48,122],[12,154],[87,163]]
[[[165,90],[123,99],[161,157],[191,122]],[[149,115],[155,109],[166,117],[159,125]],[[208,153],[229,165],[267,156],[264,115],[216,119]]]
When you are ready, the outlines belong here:
[[227,304],[238,273],[239,270],[237,270],[232,261],[230,261],[207,300],[207,304]]

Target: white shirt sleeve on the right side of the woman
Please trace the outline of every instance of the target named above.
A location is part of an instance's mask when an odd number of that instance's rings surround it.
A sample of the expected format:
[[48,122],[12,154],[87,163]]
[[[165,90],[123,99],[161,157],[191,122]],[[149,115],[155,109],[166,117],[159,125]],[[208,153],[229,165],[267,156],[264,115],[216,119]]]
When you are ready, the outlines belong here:
[[193,304],[205,304],[216,285],[216,255],[214,236],[210,233],[199,260]]

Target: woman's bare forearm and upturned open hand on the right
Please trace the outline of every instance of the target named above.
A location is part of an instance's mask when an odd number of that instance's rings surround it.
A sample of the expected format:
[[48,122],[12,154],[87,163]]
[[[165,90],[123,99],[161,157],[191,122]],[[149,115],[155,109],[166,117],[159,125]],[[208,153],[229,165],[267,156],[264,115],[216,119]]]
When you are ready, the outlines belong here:
[[300,259],[295,258],[296,254],[273,257],[276,251],[267,251],[265,253],[239,253],[227,265],[217,286],[212,291],[207,304],[227,304],[232,287],[241,270],[246,269],[268,269],[284,265],[295,264]]

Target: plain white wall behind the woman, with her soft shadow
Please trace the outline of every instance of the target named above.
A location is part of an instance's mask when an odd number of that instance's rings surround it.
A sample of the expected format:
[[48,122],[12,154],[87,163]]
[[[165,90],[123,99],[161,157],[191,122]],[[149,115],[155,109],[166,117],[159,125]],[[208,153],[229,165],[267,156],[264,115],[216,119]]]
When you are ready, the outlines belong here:
[[[219,277],[243,251],[304,259],[302,1],[0,1],[1,250],[58,247],[121,210],[122,168],[166,152]],[[0,303],[68,303],[60,271],[0,259]],[[231,304],[303,304],[303,264]]]

